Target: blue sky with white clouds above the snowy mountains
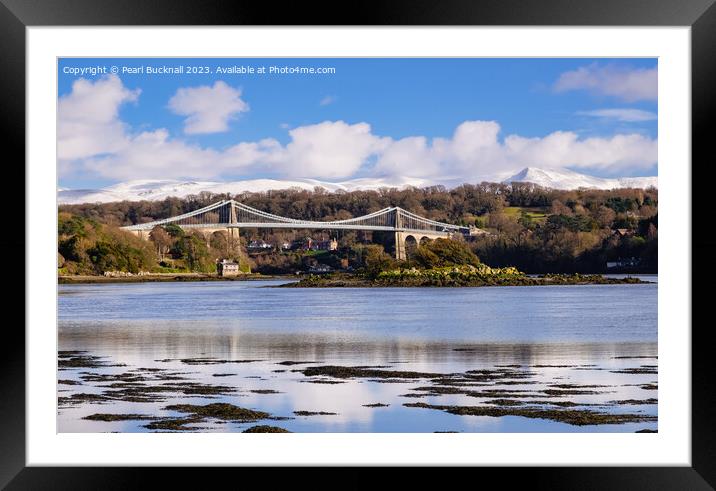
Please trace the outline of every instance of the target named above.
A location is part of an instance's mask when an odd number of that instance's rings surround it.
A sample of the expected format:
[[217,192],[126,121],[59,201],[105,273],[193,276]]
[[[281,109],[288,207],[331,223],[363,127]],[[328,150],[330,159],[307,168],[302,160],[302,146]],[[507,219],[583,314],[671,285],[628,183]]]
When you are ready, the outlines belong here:
[[[164,65],[212,73],[122,73]],[[86,70],[96,66],[107,73]],[[232,66],[335,73],[216,73]],[[59,185],[389,175],[470,182],[528,165],[656,175],[656,67],[623,58],[61,59]]]

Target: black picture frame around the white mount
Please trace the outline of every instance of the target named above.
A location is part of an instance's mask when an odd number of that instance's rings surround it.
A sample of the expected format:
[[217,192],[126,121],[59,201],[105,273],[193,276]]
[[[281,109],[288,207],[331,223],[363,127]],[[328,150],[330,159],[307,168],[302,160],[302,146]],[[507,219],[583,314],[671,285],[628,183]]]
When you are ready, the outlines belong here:
[[[713,163],[708,120],[716,114],[716,5],[715,0],[393,0],[350,2],[340,9],[323,0],[248,2],[213,0],[0,0],[0,107],[5,154],[16,156],[6,165],[12,182],[25,182],[19,162],[25,156],[25,28],[28,26],[113,25],[523,25],[523,26],[690,26],[692,69],[692,230],[707,220],[707,174]],[[345,12],[338,14],[338,12]],[[11,152],[7,152],[11,150]],[[699,165],[694,165],[698,162]],[[711,164],[710,166],[708,164]],[[699,178],[694,176],[697,174]],[[18,190],[17,202],[24,203]],[[688,231],[688,224],[684,224]],[[684,237],[692,249],[699,274],[712,277],[716,240],[713,234]],[[1,245],[4,257],[25,248],[24,233]],[[25,257],[25,261],[29,258]],[[689,265],[691,266],[691,265]],[[17,271],[15,271],[17,269]],[[8,270],[20,278],[24,263],[14,261]],[[692,269],[693,271],[693,269]],[[692,276],[693,278],[693,276]],[[21,289],[16,289],[19,295]],[[24,290],[23,290],[24,291]],[[696,292],[696,284],[692,292]],[[26,294],[32,294],[27,291]],[[693,300],[692,311],[702,308]],[[19,301],[19,299],[18,299]],[[703,304],[702,304],[703,305]],[[697,316],[693,317],[698,318]],[[688,329],[691,326],[671,326]],[[480,481],[491,477],[530,488],[545,489],[714,489],[716,486],[716,434],[710,401],[712,358],[710,323],[693,326],[692,335],[692,467],[583,467],[484,468]],[[6,323],[5,347],[0,357],[0,486],[7,489],[127,489],[148,484],[146,474],[164,486],[186,483],[191,469],[26,467],[25,461],[25,337],[19,322]],[[294,471],[298,471],[294,469]],[[355,473],[356,470],[351,471]],[[230,469],[214,469],[212,478]],[[421,472],[404,473],[403,483]],[[358,476],[358,474],[355,474]],[[406,481],[407,480],[407,481]],[[356,477],[355,482],[361,482]],[[345,482],[345,481],[344,481]]]

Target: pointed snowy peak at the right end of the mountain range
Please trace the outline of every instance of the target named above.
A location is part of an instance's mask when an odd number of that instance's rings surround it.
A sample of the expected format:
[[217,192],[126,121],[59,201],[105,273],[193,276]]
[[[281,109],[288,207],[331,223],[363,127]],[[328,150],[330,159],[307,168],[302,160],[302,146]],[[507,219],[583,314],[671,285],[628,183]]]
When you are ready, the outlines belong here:
[[658,178],[654,177],[594,177],[580,174],[567,169],[540,169],[538,167],[525,167],[517,174],[502,181],[531,182],[545,188],[552,189],[615,189],[615,188],[648,188],[658,187]]

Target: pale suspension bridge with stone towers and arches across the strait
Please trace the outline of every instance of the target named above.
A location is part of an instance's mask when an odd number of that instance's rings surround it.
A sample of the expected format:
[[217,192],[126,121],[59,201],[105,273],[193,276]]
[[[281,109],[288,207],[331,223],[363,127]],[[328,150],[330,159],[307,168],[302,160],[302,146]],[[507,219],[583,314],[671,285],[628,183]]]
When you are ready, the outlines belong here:
[[202,233],[227,231],[237,236],[240,228],[288,228],[315,230],[367,230],[395,233],[395,256],[406,259],[406,247],[436,238],[455,234],[475,235],[483,232],[476,227],[463,227],[430,220],[397,206],[383,208],[360,217],[347,220],[300,220],[257,210],[233,199],[222,200],[204,208],[163,220],[122,227],[141,238],[148,239],[154,227],[177,225],[182,229]]

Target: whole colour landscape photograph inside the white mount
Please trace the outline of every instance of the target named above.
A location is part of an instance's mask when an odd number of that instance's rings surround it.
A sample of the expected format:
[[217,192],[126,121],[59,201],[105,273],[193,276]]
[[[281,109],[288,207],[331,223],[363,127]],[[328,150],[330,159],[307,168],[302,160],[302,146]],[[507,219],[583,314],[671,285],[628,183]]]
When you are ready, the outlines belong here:
[[659,64],[58,57],[57,432],[657,433]]

